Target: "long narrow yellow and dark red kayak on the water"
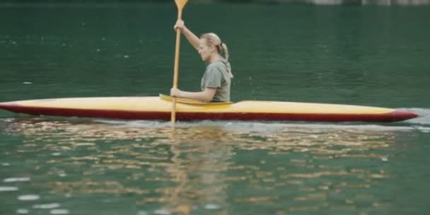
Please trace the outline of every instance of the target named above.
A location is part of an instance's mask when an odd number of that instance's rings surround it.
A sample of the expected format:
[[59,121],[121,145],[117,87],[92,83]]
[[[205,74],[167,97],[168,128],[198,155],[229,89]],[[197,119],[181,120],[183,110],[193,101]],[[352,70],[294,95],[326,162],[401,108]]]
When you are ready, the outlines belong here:
[[[0,103],[0,108],[30,115],[96,117],[118,120],[170,120],[171,98],[149,97],[52,98]],[[200,103],[177,99],[176,119],[291,120],[312,122],[395,122],[417,115],[405,110],[360,105],[245,100]]]

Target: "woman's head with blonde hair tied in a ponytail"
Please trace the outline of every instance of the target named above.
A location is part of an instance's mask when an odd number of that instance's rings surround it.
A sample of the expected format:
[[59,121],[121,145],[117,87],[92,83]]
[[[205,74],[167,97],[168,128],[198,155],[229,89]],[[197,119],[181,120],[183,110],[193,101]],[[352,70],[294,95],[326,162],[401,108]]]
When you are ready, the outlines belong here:
[[221,57],[226,59],[228,73],[233,78],[233,74],[231,74],[230,62],[228,62],[229,56],[227,45],[221,42],[221,39],[218,35],[214,33],[205,33],[200,36],[199,54],[204,62],[210,62],[216,56],[216,54],[219,54]]

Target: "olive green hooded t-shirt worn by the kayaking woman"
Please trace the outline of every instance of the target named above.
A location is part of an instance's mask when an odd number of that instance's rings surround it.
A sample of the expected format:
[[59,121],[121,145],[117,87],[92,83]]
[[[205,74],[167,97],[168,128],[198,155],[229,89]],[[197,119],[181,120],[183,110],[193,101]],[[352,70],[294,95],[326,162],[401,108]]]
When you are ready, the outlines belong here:
[[213,62],[206,67],[202,77],[202,91],[204,88],[216,88],[216,93],[211,102],[230,101],[231,78],[228,74],[225,62]]

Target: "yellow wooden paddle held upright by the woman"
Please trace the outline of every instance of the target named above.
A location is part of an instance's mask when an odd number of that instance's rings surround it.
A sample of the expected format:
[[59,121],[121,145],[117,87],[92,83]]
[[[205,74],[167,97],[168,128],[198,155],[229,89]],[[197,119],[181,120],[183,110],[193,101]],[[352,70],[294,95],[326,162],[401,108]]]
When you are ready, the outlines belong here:
[[[175,0],[176,7],[178,8],[178,21],[182,20],[182,10],[187,4],[188,0]],[[180,29],[176,30],[176,48],[175,48],[175,68],[173,69],[173,88],[178,88],[178,74],[179,74],[179,48],[180,48]],[[172,100],[172,115],[170,122],[175,124],[176,121],[176,98]]]

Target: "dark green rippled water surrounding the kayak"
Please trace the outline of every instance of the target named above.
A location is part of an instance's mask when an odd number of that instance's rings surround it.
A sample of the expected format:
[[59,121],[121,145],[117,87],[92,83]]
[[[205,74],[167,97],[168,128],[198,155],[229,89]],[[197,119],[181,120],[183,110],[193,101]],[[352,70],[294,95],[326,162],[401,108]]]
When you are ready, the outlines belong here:
[[[233,100],[400,108],[391,124],[168,122],[0,112],[0,214],[429,214],[430,7],[190,4]],[[0,101],[158,95],[173,4],[0,6]],[[205,65],[182,40],[181,89]]]

